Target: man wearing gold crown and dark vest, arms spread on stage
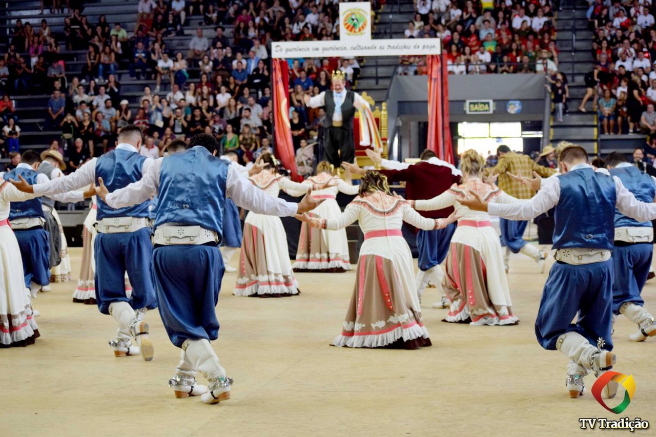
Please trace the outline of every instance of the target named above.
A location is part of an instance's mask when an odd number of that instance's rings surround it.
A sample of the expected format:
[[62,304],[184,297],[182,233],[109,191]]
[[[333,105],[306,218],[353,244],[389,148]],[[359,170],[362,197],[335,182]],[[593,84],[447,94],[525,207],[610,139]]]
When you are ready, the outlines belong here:
[[333,91],[323,91],[318,96],[305,94],[305,104],[310,108],[325,106],[323,121],[323,150],[325,158],[335,167],[342,162],[352,163],[356,158],[356,146],[353,140],[353,117],[356,109],[369,103],[354,91],[346,91],[344,73],[333,72]]

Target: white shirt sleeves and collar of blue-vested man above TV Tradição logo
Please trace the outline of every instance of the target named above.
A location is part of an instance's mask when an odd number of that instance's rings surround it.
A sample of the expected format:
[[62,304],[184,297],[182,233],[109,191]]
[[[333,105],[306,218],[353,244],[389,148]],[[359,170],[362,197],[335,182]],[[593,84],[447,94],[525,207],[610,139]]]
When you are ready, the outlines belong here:
[[[585,168],[592,167],[588,164],[579,164],[572,167],[570,171]],[[635,218],[639,222],[647,222],[656,218],[656,203],[638,201],[618,177],[613,177],[613,180],[617,196],[616,205],[620,213]],[[559,200],[560,178],[550,177],[542,180],[540,191],[530,200],[520,203],[489,203],[487,213],[508,220],[530,220],[555,207]]]

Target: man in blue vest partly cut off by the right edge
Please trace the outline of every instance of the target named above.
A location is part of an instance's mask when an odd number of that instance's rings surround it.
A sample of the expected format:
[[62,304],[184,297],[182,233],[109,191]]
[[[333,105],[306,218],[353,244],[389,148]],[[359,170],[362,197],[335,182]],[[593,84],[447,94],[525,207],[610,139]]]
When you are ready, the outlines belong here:
[[[618,177],[627,190],[644,202],[656,198],[655,179],[642,173],[628,162],[624,154],[613,152],[606,158],[612,176]],[[615,249],[613,249],[613,320],[617,314],[624,314],[628,320],[638,325],[638,331],[628,338],[631,341],[645,341],[656,335],[653,316],[644,308],[640,297],[642,287],[647,281],[653,254],[653,227],[651,222],[639,222],[615,210]]]

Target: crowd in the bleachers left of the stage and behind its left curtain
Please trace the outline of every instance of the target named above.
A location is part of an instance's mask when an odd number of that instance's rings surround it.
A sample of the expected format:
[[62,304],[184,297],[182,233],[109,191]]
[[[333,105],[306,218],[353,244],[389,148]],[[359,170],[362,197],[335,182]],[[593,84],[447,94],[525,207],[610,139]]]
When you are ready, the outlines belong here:
[[[5,135],[4,156],[20,136],[10,94],[49,94],[38,127],[60,133],[52,136],[51,147],[66,157],[69,171],[110,150],[128,123],[142,127],[141,152],[148,156],[163,156],[174,138],[205,132],[215,135],[222,152],[233,150],[243,163],[252,162],[273,141],[271,42],[339,37],[337,0],[140,0],[132,32],[104,16],[91,24],[82,12],[73,9],[60,34],[45,19],[38,31],[17,20],[0,59],[0,114],[3,124],[13,119],[9,129],[16,133]],[[180,35],[193,37],[176,38]],[[185,49],[180,41],[188,41]],[[78,56],[83,62],[66,66],[60,50],[85,51]],[[289,60],[297,149],[316,138],[323,115],[305,108],[303,96],[330,89],[334,70],[346,73],[352,85],[359,64],[354,58]],[[131,95],[123,93],[121,82],[131,84]],[[135,83],[143,90],[136,103]]]

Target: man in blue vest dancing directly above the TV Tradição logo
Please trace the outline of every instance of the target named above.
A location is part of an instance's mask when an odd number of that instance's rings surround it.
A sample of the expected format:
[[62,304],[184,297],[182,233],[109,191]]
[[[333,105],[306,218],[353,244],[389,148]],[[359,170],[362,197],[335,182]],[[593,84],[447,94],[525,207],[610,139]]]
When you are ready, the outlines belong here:
[[[656,203],[636,200],[620,178],[595,172],[580,146],[565,148],[558,160],[561,175],[532,180],[539,192],[530,200],[488,205],[474,194],[461,203],[508,220],[529,220],[555,207],[556,263],[544,284],[535,334],[543,348],[569,358],[567,390],[578,398],[589,371],[598,376],[617,360],[611,352],[615,208],[644,222],[656,218]],[[604,392],[615,396],[617,383],[609,383]]]

